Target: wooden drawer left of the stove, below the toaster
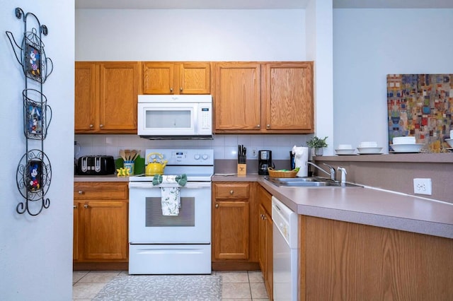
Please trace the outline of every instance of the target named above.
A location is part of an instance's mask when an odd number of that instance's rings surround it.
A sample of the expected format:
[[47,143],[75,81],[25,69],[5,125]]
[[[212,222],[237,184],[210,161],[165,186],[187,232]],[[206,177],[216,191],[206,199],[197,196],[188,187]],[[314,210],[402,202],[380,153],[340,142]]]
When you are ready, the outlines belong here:
[[76,182],[74,199],[128,199],[127,183]]

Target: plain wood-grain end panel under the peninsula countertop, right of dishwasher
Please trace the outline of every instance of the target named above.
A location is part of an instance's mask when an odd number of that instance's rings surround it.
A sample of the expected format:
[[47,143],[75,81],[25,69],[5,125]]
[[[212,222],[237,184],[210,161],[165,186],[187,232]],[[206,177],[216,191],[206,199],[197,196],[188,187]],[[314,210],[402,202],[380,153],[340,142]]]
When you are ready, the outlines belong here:
[[299,218],[299,300],[453,300],[453,240]]

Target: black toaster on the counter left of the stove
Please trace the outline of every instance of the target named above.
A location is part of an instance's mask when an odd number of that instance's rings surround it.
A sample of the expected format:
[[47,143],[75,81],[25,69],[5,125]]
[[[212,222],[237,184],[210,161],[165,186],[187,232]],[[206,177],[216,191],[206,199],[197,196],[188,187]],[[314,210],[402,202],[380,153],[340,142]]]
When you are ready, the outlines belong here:
[[113,175],[115,160],[111,155],[83,155],[77,164],[77,175]]

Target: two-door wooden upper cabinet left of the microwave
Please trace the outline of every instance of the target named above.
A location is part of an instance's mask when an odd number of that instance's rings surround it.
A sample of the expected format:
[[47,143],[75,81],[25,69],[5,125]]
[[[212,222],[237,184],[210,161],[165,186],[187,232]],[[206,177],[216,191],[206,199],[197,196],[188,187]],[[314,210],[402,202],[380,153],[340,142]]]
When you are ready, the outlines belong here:
[[134,61],[76,61],[76,134],[136,134],[139,74]]

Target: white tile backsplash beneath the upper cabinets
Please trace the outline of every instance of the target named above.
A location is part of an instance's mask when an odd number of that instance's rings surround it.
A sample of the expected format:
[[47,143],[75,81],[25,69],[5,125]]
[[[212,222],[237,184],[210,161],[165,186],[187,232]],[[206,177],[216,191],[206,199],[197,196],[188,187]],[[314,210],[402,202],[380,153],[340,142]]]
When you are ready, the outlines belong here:
[[[272,151],[273,160],[289,159],[293,146],[306,146],[312,135],[215,135],[213,140],[148,140],[137,135],[75,135],[74,141],[80,145],[81,155],[113,155],[119,157],[120,149],[136,149],[144,152],[147,148],[212,148],[216,160],[237,158],[238,145],[247,148],[247,159],[257,160],[258,151]],[[256,150],[256,156],[253,156]]]

